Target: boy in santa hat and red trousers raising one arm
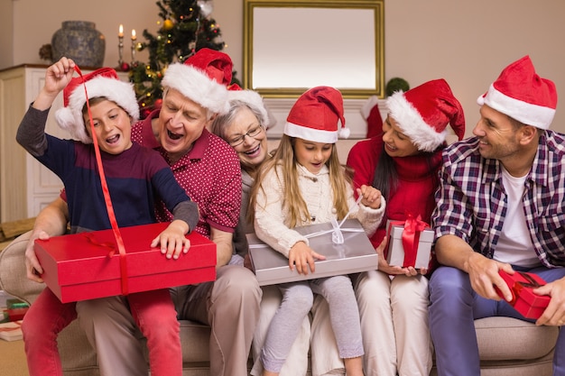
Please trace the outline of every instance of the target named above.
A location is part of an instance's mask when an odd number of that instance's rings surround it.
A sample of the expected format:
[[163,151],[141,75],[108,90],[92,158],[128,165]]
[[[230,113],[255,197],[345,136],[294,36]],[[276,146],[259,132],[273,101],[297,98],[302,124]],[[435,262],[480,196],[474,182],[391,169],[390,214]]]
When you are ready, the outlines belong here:
[[[132,142],[131,124],[139,116],[134,88],[120,81],[114,69],[97,69],[84,76],[87,98],[83,78],[72,78],[74,68],[72,60],[61,58],[47,69],[45,85],[24,115],[17,141],[63,181],[71,233],[80,233],[110,228],[92,144],[96,138],[117,224],[154,223],[154,200],[162,198],[174,220],[151,245],[161,243],[163,257],[178,258],[181,252],[188,252],[190,242],[184,234],[196,226],[198,207],[157,151]],[[61,90],[65,106],[57,111],[57,121],[80,142],[45,133],[47,115]],[[180,376],[180,325],[169,290],[129,294],[127,300],[136,324],[147,337],[151,374]],[[61,303],[50,289],[43,289],[33,302],[22,326],[30,375],[62,375],[57,335],[77,317],[75,307],[75,303]]]

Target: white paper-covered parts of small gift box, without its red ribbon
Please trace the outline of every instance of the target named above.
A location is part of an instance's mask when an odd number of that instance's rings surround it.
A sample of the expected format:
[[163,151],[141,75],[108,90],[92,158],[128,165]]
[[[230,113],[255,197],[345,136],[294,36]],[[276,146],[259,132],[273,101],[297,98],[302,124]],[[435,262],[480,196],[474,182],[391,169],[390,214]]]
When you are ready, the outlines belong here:
[[[406,264],[406,257],[403,247],[403,231],[404,231],[404,221],[387,221],[386,223],[386,234],[388,238],[388,252],[386,254],[386,261],[391,266],[402,266],[408,267],[413,266],[415,269],[429,268],[430,257],[431,257],[431,243],[433,243],[433,230],[430,226],[419,232],[417,236],[418,248],[416,253],[415,262],[410,265],[411,262]],[[413,255],[410,255],[413,257]]]

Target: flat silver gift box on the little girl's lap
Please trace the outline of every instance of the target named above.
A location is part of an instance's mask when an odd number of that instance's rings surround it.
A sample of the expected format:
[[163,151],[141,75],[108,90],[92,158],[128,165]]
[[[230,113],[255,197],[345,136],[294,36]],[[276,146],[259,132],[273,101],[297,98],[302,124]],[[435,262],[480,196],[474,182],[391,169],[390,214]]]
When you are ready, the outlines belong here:
[[[332,242],[331,223],[296,227],[297,232],[309,237],[310,248],[326,256],[316,261],[316,271],[307,275],[291,271],[289,261],[280,252],[259,240],[255,234],[247,234],[249,256],[260,286],[297,280],[345,275],[360,271],[375,271],[378,256],[365,230],[357,219],[347,219],[341,226],[344,242]],[[318,235],[316,235],[318,234]]]

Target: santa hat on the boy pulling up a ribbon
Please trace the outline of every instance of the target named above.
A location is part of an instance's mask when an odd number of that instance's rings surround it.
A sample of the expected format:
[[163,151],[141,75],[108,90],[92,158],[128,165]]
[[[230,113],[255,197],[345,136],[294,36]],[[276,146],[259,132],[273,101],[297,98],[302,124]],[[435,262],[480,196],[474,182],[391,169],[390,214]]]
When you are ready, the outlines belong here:
[[72,138],[84,143],[92,143],[82,117],[82,109],[88,99],[105,97],[122,107],[132,117],[132,123],[139,119],[139,105],[135,98],[134,87],[129,82],[120,81],[116,70],[100,68],[82,77],[72,78],[63,89],[63,107],[55,113],[60,127],[69,132]]

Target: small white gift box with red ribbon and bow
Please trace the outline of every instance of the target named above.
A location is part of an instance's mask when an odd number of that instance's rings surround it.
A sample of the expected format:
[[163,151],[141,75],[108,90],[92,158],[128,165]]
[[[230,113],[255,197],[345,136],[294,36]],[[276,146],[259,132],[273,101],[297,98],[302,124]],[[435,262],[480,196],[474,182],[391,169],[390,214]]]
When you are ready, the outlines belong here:
[[391,266],[429,268],[433,231],[420,218],[386,223],[388,249],[386,261]]

